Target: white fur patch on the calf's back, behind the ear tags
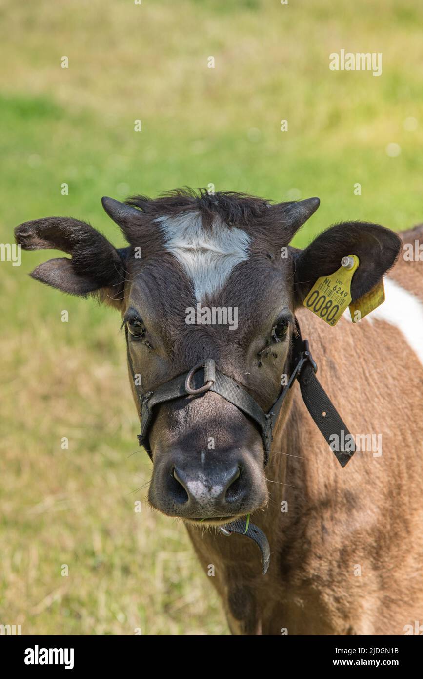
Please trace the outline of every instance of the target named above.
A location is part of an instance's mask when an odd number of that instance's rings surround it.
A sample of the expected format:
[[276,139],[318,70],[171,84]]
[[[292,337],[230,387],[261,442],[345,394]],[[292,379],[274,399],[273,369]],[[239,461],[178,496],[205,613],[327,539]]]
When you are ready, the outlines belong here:
[[[374,323],[375,320],[384,320],[395,326],[423,364],[423,305],[416,295],[392,278],[384,278],[384,286],[384,303],[365,316],[363,321]],[[344,318],[352,323],[349,310],[344,313]]]

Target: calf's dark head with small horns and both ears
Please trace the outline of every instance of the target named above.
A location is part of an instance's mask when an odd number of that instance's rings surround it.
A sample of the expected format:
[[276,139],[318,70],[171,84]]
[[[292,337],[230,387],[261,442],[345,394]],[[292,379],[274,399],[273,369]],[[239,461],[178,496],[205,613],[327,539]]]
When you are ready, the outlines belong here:
[[[345,255],[358,255],[354,301],[399,252],[393,232],[359,222],[330,227],[304,250],[292,248],[318,198],[272,205],[243,194],[178,190],[155,200],[102,202],[129,243],[124,249],[66,217],[21,224],[16,240],[24,249],[71,255],[39,265],[36,280],[119,308],[144,392],[211,358],[267,411],[281,389],[296,308],[315,280],[339,268]],[[149,500],[169,516],[222,523],[266,503],[260,433],[218,394],[157,406],[148,445]]]

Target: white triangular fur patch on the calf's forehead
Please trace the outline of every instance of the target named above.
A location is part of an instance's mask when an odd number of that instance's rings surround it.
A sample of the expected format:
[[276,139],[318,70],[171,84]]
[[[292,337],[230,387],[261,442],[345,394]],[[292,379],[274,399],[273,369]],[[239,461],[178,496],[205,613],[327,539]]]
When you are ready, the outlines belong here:
[[218,217],[209,230],[203,227],[199,213],[159,217],[155,221],[160,223],[166,249],[184,267],[199,302],[221,290],[233,268],[248,259],[251,238]]

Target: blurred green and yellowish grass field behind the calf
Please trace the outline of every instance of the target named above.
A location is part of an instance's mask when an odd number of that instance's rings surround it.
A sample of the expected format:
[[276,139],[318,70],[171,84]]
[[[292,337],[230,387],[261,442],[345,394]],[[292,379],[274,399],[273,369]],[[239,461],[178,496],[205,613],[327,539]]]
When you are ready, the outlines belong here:
[[[1,242],[71,215],[122,246],[102,196],[210,183],[319,196],[299,246],[421,222],[422,24],[418,0],[1,0]],[[382,52],[382,75],[330,71],[342,49]],[[28,277],[52,256],[0,263],[0,623],[227,634],[184,526],[145,502],[121,319]]]

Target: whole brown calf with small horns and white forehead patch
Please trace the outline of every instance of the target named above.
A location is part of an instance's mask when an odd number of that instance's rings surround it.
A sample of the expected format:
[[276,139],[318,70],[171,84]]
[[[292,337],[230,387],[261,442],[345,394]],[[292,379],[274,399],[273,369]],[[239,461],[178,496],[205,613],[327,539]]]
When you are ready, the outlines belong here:
[[[396,234],[349,221],[304,250],[291,247],[317,198],[270,204],[178,190],[103,205],[126,248],[66,217],[26,222],[16,240],[71,255],[39,265],[33,278],[121,311],[140,440],[153,460],[149,502],[182,517],[201,566],[214,565],[233,634],[403,634],[423,622],[419,262],[400,257],[382,306],[356,325],[345,314],[329,327],[304,308],[308,291],[353,254],[351,297],[361,299],[394,265]],[[220,318],[236,309],[237,323],[218,323],[216,309]],[[356,440],[345,469],[296,384],[271,448],[258,426],[291,373],[298,327]],[[180,382],[205,359],[208,375],[205,367],[203,378],[193,371]],[[161,391],[166,398],[150,407]],[[381,445],[363,451],[358,440]],[[266,575],[252,541],[218,529],[245,517],[268,536]]]

